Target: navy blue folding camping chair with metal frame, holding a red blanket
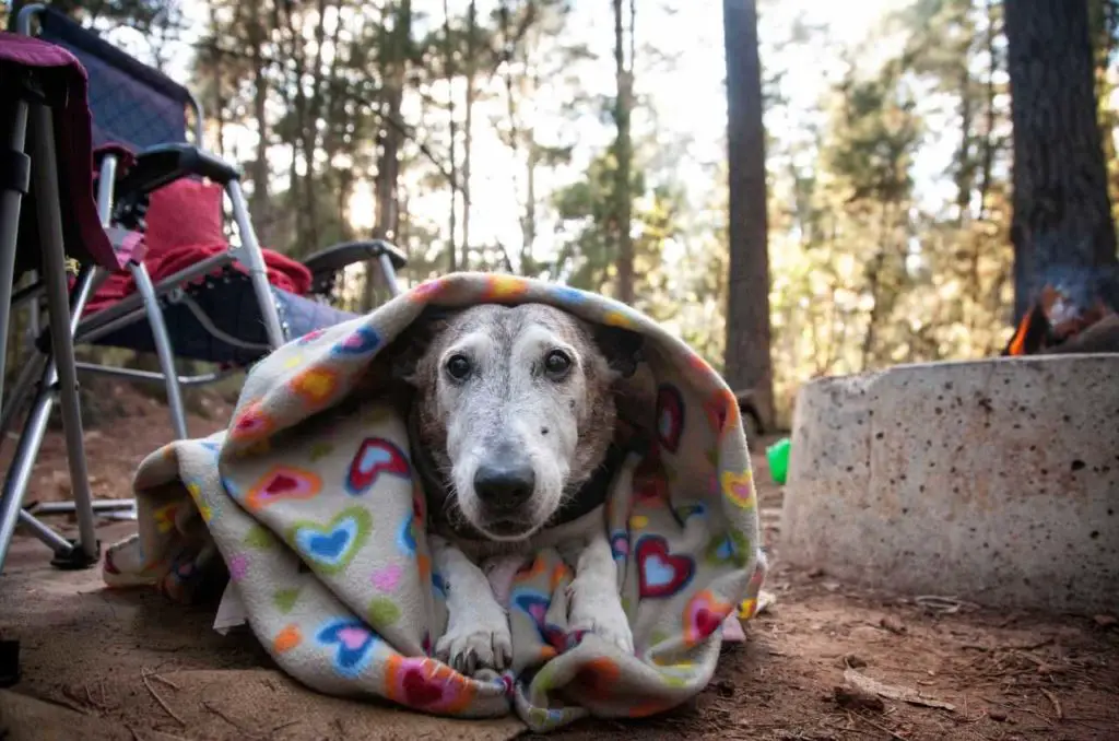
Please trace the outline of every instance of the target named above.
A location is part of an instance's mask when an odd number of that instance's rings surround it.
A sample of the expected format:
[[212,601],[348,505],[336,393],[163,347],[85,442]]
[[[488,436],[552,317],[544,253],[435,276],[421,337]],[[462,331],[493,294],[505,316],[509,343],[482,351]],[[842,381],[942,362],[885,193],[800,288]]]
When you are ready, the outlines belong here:
[[[289,339],[352,316],[322,300],[333,290],[336,276],[344,268],[357,262],[375,261],[389,293],[399,292],[395,275],[396,270],[405,265],[405,260],[395,247],[383,241],[337,245],[307,259],[303,266],[311,275],[310,292],[318,296],[319,300],[279,290],[270,284],[265,256],[256,242],[241,189],[239,172],[199,146],[186,143],[188,109],[194,114],[195,142],[201,142],[203,115],[197,100],[161,73],[142,65],[65,16],[41,6],[30,6],[20,12],[18,27],[21,34],[29,35],[35,18],[39,21],[39,39],[69,51],[88,72],[88,101],[93,112],[92,144],[98,148],[100,154],[96,216],[109,228],[113,244],[119,246],[111,264],[98,263],[102,270],[97,270],[98,265],[88,261],[83,263],[83,270],[69,296],[73,334],[67,332],[65,338],[59,339],[58,334],[51,330],[49,341],[65,343],[70,358],[74,344],[154,351],[160,366],[159,373],[88,363],[76,364],[76,369],[162,384],[167,391],[175,432],[179,438],[185,438],[187,430],[181,400],[182,386],[217,381],[256,362]],[[85,178],[88,180],[91,158],[88,154],[86,158]],[[117,169],[122,170],[120,175]],[[145,222],[152,194],[171,184],[200,178],[217,184],[228,197],[239,244],[229,246],[226,243],[227,248],[219,253],[184,266],[159,281],[152,281],[144,263],[147,255],[142,238],[145,227],[152,226]],[[20,244],[23,244],[22,240]],[[67,245],[69,244],[70,241],[67,240]],[[88,268],[85,266],[87,264]],[[2,268],[0,264],[0,269]],[[97,283],[107,278],[105,271],[121,269],[130,273],[135,292],[107,308],[87,312],[90,297]],[[3,274],[0,273],[0,279],[2,278]],[[45,269],[44,281],[40,283],[45,284],[48,279],[50,274]],[[41,289],[32,287],[21,291],[16,298],[34,299],[32,306],[37,306],[36,290]],[[0,296],[2,298],[4,297]],[[4,306],[7,307],[7,302]],[[34,311],[35,309],[32,313]],[[51,311],[51,321],[55,321],[54,313]],[[73,557],[63,547],[63,544],[69,545],[68,542],[43,525],[32,513],[20,509],[56,397],[54,385],[44,383],[47,379],[44,375],[46,370],[40,370],[39,365],[49,369],[55,356],[59,358],[59,368],[66,363],[64,355],[46,341],[45,337],[36,341],[36,363],[28,363],[21,369],[12,398],[4,405],[3,419],[0,420],[0,434],[3,434],[18,412],[17,405],[27,398],[31,400],[30,412],[0,500],[0,569],[17,519],[55,550],[56,559],[53,563],[56,565],[84,566],[96,561],[96,544],[92,540],[92,510],[83,512],[90,503],[84,465],[81,476],[73,470],[74,460],[84,461],[81,433],[70,435],[67,428],[67,451],[72,459],[72,477],[75,479],[75,501],[70,506],[77,509],[79,524],[88,520],[88,528],[85,528],[88,532],[83,529],[78,541],[83,546],[83,555]],[[219,369],[181,376],[176,368],[176,357],[215,363],[219,365]],[[36,379],[39,381],[37,390]],[[64,391],[65,385],[64,379]],[[34,395],[31,392],[35,392]],[[62,401],[65,410],[65,394]],[[77,480],[79,478],[81,484]],[[130,500],[101,504],[131,506]],[[40,507],[38,512],[58,509],[56,505]]]

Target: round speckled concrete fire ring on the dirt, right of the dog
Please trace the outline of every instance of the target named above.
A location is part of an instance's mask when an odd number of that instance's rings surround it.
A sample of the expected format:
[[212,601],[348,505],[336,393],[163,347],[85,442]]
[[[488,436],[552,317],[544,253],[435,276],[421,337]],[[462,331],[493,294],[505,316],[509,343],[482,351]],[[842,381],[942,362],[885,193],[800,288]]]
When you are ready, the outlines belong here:
[[911,595],[1119,610],[1119,355],[807,384],[779,555]]

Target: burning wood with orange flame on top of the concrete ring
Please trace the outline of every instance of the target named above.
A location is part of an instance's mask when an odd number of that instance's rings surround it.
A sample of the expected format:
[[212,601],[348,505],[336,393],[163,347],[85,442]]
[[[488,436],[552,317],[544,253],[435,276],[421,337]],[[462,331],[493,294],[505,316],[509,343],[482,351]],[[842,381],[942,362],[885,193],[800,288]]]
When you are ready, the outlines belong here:
[[1051,281],[1003,350],[1008,355],[1119,353],[1119,313],[1090,290],[1093,281]]

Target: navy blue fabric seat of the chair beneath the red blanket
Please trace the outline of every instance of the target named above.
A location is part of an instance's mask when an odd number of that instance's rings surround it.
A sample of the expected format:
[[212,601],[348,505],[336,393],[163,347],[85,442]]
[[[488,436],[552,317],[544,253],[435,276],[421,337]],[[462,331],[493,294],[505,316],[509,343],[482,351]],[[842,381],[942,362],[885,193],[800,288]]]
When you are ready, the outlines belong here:
[[[288,339],[332,327],[356,316],[275,287],[272,287],[272,293]],[[226,270],[219,276],[186,289],[184,296],[187,300],[171,298],[161,301],[176,357],[243,366],[269,353],[264,319],[247,275],[237,270]],[[205,315],[205,321],[198,318],[196,307]],[[236,341],[227,341],[223,336]],[[96,345],[156,351],[147,319],[139,319],[102,337]]]

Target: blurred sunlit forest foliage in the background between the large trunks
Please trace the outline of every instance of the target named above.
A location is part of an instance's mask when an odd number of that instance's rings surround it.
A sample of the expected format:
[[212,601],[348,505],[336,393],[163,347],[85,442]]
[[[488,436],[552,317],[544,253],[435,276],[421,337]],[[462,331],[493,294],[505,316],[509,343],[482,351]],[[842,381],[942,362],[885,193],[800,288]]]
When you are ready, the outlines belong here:
[[[185,3],[55,4],[95,27],[147,32],[176,26]],[[584,4],[594,3],[478,3],[471,26],[462,13],[444,19],[439,3],[413,9],[408,0],[207,0],[192,82],[214,141],[222,134],[222,151],[246,163],[254,217],[269,246],[305,255],[369,236],[382,216],[378,204],[354,196],[383,172],[394,180],[388,203],[410,281],[445,270],[452,193],[460,216],[469,209],[474,224],[495,221],[493,210],[514,224],[500,237],[471,236],[474,269],[511,265],[613,294],[620,229],[628,228],[634,304],[720,367],[730,272],[727,166],[725,158],[697,161],[695,134],[662,129],[666,111],[646,85],[655,73],[687,62],[687,51],[643,39],[633,50],[633,162],[622,189],[615,85],[600,84],[617,75],[615,38],[605,22],[611,7],[599,3],[596,27],[573,21]],[[641,38],[643,18],[674,15],[683,29],[699,3],[638,4]],[[774,4],[763,4],[763,21]],[[421,6],[431,12],[421,13]],[[770,34],[762,35],[761,58],[771,116],[771,349],[786,420],[797,388],[815,376],[989,356],[1006,338],[1010,130],[1002,2],[901,6],[862,46],[839,41],[815,12],[779,34],[763,26]],[[1119,208],[1119,118],[1111,104],[1119,13],[1115,0],[1090,7],[1100,122]],[[793,109],[793,65],[812,54],[822,54],[816,72],[830,75],[831,84],[815,109]],[[398,146],[395,177],[382,169],[389,146]],[[461,163],[468,146],[474,148],[470,182],[450,167],[452,153]],[[486,158],[495,147],[511,170],[490,168]],[[486,200],[509,180],[501,204]],[[620,190],[632,208],[628,225],[619,224]],[[463,235],[455,237],[462,244]],[[355,285],[345,298],[360,308],[365,275],[350,278]]]

